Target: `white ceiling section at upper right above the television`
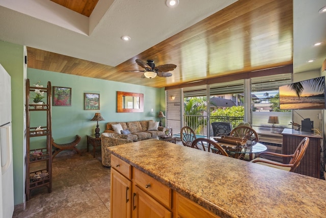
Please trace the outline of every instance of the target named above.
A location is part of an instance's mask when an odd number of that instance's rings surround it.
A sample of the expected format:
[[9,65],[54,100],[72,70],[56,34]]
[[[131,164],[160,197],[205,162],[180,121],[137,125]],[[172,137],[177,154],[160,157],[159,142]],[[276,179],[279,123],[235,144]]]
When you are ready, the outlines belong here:
[[320,69],[326,59],[326,13],[318,13],[324,6],[326,0],[293,0],[293,72]]

